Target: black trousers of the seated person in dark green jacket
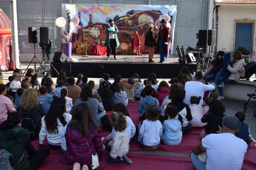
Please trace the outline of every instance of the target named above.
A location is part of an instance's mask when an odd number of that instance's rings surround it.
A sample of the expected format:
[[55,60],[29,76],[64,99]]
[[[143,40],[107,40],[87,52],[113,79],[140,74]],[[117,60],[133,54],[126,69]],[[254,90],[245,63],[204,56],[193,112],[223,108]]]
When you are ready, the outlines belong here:
[[29,156],[28,161],[30,162],[30,170],[36,170],[49,156],[49,154],[50,149],[45,147],[39,149],[33,156]]

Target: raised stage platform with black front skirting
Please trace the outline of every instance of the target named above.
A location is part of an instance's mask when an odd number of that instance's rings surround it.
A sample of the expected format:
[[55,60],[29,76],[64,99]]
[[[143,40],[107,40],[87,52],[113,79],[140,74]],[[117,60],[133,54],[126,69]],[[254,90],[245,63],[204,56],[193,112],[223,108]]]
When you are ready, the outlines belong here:
[[[79,62],[52,62],[52,65],[58,72],[64,70],[68,77],[76,77],[77,74],[82,73],[91,78],[100,78],[104,72],[110,74],[111,78],[114,78],[116,74],[122,75],[123,78],[132,77],[134,72],[137,72],[141,78],[147,78],[150,72],[156,73],[158,78],[173,78],[179,74],[183,66],[188,66],[190,71],[196,67],[196,63],[180,64],[178,55],[170,55],[165,63],[158,63],[160,55],[154,55],[155,63],[148,63],[148,55],[117,55],[117,60],[110,56],[108,61],[106,56],[72,55],[72,57],[78,59]],[[58,74],[53,71],[52,76],[57,77]]]

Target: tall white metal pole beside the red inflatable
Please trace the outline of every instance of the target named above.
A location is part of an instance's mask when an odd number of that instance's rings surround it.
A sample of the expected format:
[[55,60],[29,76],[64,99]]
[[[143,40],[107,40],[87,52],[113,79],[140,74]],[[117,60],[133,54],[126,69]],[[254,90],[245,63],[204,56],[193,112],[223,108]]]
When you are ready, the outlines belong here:
[[15,69],[15,68],[20,68],[16,0],[10,0],[10,9],[11,9],[11,24],[12,24],[12,51],[13,51],[12,59],[13,59],[13,64]]

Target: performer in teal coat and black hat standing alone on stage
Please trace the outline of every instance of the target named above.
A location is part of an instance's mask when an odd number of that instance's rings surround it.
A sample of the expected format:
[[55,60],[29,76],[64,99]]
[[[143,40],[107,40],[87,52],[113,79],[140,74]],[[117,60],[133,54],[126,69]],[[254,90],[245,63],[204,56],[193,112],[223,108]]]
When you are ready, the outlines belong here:
[[105,40],[105,45],[107,47],[107,60],[109,60],[110,49],[112,49],[112,54],[114,55],[114,59],[116,59],[117,48],[119,47],[119,41],[117,37],[118,29],[117,26],[114,25],[114,21],[110,19],[108,21],[109,25],[107,26],[107,35]]

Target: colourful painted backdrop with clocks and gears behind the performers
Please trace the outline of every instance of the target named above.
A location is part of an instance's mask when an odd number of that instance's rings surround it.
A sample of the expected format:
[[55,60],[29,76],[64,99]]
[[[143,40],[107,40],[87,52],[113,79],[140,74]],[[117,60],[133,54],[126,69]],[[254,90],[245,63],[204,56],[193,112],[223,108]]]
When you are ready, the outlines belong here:
[[[72,53],[87,54],[96,42],[104,45],[106,39],[106,26],[108,20],[113,19],[118,27],[118,39],[120,46],[119,54],[133,54],[132,39],[135,31],[138,31],[140,39],[140,53],[148,53],[148,47],[144,46],[145,35],[149,23],[154,23],[154,32],[158,32],[160,20],[168,21],[170,28],[170,54],[172,54],[175,21],[177,14],[175,5],[102,5],[102,4],[62,4],[62,16],[66,19],[66,26],[62,29],[62,43],[67,43],[65,35],[72,30],[70,41],[72,42]],[[72,19],[79,18],[79,23],[73,23]],[[69,24],[69,25],[67,25]],[[70,26],[71,25],[71,26]],[[77,26],[76,26],[77,25]],[[90,39],[83,41],[83,29],[89,29]],[[63,49],[62,49],[63,50]]]

